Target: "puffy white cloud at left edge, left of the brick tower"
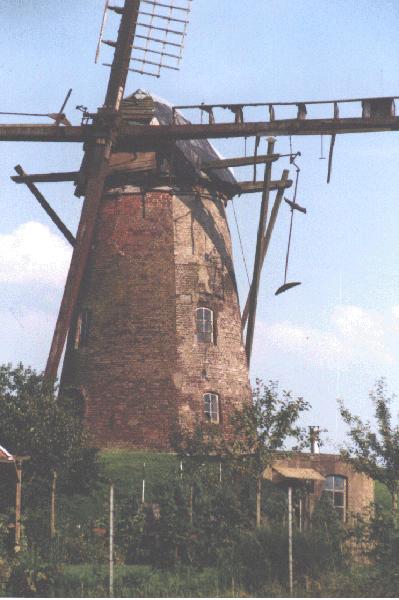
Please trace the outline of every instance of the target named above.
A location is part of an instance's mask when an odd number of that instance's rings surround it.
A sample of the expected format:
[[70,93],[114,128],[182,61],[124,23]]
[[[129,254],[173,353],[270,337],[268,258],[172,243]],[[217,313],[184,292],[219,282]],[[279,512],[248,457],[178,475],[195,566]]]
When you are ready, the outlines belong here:
[[0,282],[62,286],[71,248],[59,235],[37,222],[23,223],[0,235]]

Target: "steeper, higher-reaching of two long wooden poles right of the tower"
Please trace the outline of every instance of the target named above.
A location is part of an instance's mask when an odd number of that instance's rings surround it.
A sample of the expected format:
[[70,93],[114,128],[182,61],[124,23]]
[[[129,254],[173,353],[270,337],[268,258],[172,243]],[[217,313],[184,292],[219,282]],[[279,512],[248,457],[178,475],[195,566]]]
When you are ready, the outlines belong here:
[[[274,144],[276,140],[274,138],[268,138],[267,144],[267,154],[272,155],[274,150]],[[262,193],[262,203],[260,208],[259,215],[259,227],[258,227],[258,236],[256,240],[256,253],[255,253],[255,262],[254,262],[254,270],[252,276],[252,285],[251,285],[251,297],[249,301],[249,309],[248,309],[248,327],[247,327],[247,335],[245,338],[245,352],[247,355],[248,366],[251,362],[251,353],[252,353],[252,344],[254,338],[254,330],[255,330],[255,319],[256,319],[256,305],[258,301],[258,289],[259,289],[259,281],[260,281],[260,273],[261,273],[261,253],[262,253],[262,242],[265,231],[265,224],[267,220],[267,212],[269,207],[269,194],[270,194],[270,181],[272,176],[272,163],[266,163],[265,166],[265,175],[264,175],[264,186]]]

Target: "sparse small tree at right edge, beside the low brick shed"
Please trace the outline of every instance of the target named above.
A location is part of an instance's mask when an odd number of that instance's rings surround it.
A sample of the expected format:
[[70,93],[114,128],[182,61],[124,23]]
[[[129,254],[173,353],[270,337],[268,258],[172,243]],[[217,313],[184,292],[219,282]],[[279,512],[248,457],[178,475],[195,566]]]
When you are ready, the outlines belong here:
[[342,457],[359,473],[386,485],[392,500],[392,511],[398,508],[399,486],[399,424],[393,425],[384,379],[379,379],[370,399],[374,406],[377,431],[364,423],[339,402],[341,416],[349,426],[349,442],[341,449]]

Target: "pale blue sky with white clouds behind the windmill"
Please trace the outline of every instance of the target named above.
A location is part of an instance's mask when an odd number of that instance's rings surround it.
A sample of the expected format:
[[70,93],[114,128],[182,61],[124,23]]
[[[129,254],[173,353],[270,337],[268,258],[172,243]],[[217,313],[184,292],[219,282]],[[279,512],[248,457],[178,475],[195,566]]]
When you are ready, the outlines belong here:
[[[108,77],[94,64],[102,9],[103,0],[2,2],[0,110],[56,112],[70,87],[73,123],[75,105],[100,106]],[[113,37],[114,25],[110,19],[105,37]],[[180,72],[159,80],[132,73],[127,91],[141,87],[174,104],[399,95],[398,29],[395,0],[193,0]],[[107,49],[101,58],[109,58]],[[337,397],[366,417],[377,377],[399,391],[397,138],[337,137],[329,185],[320,139],[293,138],[302,152],[298,200],[308,214],[295,216],[289,278],[302,285],[274,296],[283,279],[286,207],[262,275],[252,376],[278,380],[309,400],[306,423],[329,429],[330,448],[343,435]],[[226,156],[244,153],[242,140],[216,146]],[[327,139],[324,146],[327,153]],[[288,148],[287,138],[277,140],[278,151]],[[44,367],[69,260],[31,194],[9,177],[18,163],[28,172],[75,170],[81,157],[79,145],[0,145],[0,362]],[[275,175],[285,166],[280,161]],[[250,177],[245,169],[236,175]],[[74,230],[81,200],[72,185],[40,189]],[[250,266],[259,202],[235,199]],[[243,300],[248,284],[231,208],[229,218]]]

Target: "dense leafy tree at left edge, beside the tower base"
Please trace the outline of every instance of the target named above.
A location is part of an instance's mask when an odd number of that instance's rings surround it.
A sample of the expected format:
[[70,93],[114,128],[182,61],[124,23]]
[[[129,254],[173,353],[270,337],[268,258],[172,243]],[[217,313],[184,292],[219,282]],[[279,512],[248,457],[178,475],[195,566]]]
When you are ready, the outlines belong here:
[[42,507],[50,488],[54,535],[56,482],[65,492],[84,492],[98,474],[79,411],[71,399],[57,397],[42,374],[22,364],[0,365],[0,443],[30,456],[24,489],[31,505]]

